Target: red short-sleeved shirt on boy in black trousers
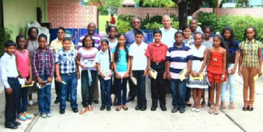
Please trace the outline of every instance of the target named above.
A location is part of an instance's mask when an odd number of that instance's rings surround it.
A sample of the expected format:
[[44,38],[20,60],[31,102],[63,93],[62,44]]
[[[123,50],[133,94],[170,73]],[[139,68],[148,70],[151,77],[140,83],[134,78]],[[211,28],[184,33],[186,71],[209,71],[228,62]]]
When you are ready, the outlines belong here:
[[150,57],[152,62],[163,62],[165,61],[167,49],[167,45],[163,44],[163,42],[158,46],[155,42],[152,42],[148,45],[145,55]]

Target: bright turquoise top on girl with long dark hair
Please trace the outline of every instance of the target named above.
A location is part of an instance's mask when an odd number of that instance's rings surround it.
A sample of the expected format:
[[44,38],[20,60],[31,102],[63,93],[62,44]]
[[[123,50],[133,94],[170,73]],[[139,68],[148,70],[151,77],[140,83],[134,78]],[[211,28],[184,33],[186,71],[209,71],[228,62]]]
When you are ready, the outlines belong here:
[[[127,47],[128,48],[128,47]],[[112,50],[113,53],[115,53],[116,48]],[[129,51],[129,48],[128,48]],[[127,53],[128,54],[128,53]],[[121,49],[119,51],[119,59],[116,60],[116,68],[117,72],[126,72],[128,68],[128,60],[126,59],[126,52],[125,49]]]

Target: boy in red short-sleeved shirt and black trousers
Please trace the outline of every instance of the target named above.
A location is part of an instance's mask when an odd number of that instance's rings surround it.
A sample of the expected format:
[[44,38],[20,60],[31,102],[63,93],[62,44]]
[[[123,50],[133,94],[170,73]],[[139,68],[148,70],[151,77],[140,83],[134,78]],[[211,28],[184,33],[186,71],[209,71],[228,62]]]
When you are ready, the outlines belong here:
[[[162,31],[154,31],[154,42],[148,45],[145,55],[148,57],[147,69],[151,77],[151,92],[152,92],[152,107],[151,110],[155,111],[159,99],[162,111],[166,111],[165,107],[165,57],[167,52],[167,45],[161,42]],[[152,77],[150,72],[151,68],[156,70],[156,79]]]

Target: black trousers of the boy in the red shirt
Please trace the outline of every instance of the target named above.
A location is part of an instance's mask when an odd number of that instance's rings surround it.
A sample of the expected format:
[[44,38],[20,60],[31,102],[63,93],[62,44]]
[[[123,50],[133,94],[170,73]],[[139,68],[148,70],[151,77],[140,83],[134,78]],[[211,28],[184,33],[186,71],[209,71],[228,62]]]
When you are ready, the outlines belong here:
[[165,63],[154,64],[151,63],[151,68],[158,72],[156,79],[151,78],[151,93],[152,93],[152,103],[159,103],[160,105],[165,105],[165,79],[163,79],[163,74],[165,72]]

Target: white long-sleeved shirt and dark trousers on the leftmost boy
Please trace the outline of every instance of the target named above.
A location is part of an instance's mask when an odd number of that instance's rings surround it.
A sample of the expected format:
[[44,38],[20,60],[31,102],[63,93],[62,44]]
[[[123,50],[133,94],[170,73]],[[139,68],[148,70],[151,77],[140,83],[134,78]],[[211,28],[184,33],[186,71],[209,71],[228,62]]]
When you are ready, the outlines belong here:
[[16,57],[4,53],[1,57],[1,79],[3,86],[12,88],[11,94],[5,92],[5,126],[13,125],[16,122],[16,108],[20,83],[16,70]]

